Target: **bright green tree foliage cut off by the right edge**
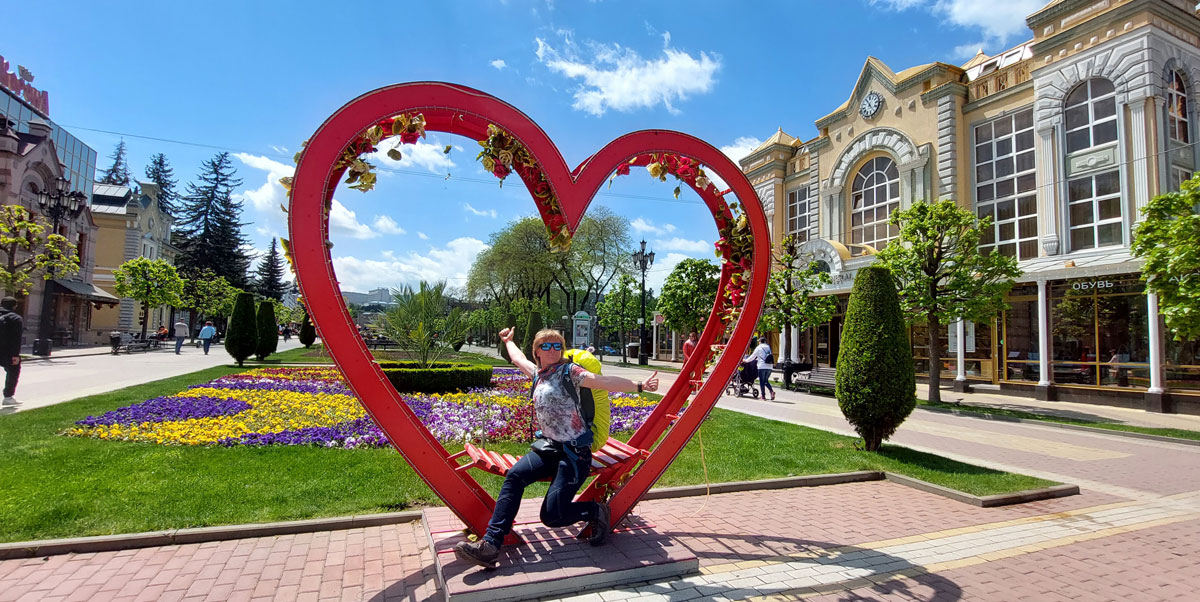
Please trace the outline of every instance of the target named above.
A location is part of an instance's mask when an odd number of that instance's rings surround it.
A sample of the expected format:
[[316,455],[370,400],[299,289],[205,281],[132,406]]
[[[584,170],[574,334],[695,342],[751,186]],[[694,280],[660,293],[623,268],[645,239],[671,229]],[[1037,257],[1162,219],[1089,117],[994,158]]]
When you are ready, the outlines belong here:
[[1200,337],[1200,179],[1159,194],[1142,209],[1130,251],[1142,259],[1141,279],[1158,295],[1158,311],[1177,341]]

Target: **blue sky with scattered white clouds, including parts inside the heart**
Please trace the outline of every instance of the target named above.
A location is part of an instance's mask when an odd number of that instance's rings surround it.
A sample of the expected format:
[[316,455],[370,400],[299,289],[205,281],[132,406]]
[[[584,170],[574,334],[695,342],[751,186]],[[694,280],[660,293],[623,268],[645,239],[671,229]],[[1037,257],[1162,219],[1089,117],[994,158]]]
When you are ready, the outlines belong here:
[[[737,158],[778,127],[815,136],[812,122],[847,98],[868,55],[895,71],[962,64],[1031,37],[1024,18],[1043,4],[22,1],[5,10],[16,25],[0,54],[29,67],[50,94],[50,118],[97,150],[100,169],[122,138],[136,175],[163,152],[181,186],[218,149],[233,152],[260,251],[287,236],[276,180],[290,174],[299,143],[383,85],[445,80],[498,96],[571,165],[643,128],[698,136]],[[384,168],[376,191],[335,194],[343,290],[462,285],[488,235],[534,212],[516,179],[500,188],[482,171],[472,140],[431,134],[402,150],[400,163],[374,161]],[[635,170],[594,201],[656,251],[654,288],[680,259],[710,258],[715,239],[700,200],[677,200],[673,187]]]

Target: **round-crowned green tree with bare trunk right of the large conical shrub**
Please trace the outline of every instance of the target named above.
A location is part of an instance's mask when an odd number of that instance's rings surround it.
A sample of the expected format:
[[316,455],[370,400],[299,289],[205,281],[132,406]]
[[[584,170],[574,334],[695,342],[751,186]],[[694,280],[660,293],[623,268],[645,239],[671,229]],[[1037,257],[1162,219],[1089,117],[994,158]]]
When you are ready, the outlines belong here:
[[942,327],[991,319],[1006,307],[1004,294],[1021,271],[1014,258],[979,251],[991,218],[979,219],[953,200],[916,203],[892,213],[890,223],[900,237],[880,253],[880,265],[899,283],[910,321],[929,326],[929,401],[940,402]]

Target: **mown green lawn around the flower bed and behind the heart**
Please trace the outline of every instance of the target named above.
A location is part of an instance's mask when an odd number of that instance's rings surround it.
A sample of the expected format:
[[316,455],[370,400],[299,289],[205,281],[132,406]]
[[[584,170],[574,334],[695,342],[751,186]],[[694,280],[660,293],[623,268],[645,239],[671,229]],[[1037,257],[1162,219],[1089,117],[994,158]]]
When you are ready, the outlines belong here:
[[[390,449],[185,447],[58,434],[88,415],[236,371],[210,368],[0,416],[0,541],[386,512],[439,502]],[[856,450],[852,438],[720,409],[701,433],[710,482],[889,470],[980,495],[1050,484],[902,447],[866,453]],[[510,453],[528,450],[516,443],[494,447]],[[703,483],[700,447],[700,440],[692,440],[659,484]],[[493,494],[499,489],[499,477],[473,474]],[[528,495],[544,493],[539,484]]]

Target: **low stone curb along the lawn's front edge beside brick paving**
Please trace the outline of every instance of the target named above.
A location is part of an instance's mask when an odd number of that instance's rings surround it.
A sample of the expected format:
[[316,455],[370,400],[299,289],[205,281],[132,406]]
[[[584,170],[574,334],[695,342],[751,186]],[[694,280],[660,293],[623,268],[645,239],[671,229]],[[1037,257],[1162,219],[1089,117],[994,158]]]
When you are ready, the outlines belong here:
[[[1079,494],[1076,484],[1056,484],[1043,489],[1027,489],[996,495],[972,495],[956,489],[929,483],[919,478],[884,472],[880,470],[862,470],[857,472],[838,472],[832,475],[788,476],[767,478],[763,481],[733,481],[727,483],[688,484],[682,487],[664,487],[650,489],[643,500],[665,500],[674,498],[694,498],[716,493],[737,493],[768,489],[790,489],[797,487],[821,487],[827,484],[858,483],[864,481],[890,481],[905,487],[912,487],[925,493],[932,493],[955,501],[979,507],[1008,506],[1027,501],[1064,498]],[[13,543],[0,543],[0,560],[22,558],[52,556],[58,554],[84,554],[94,552],[115,552],[122,549],[150,548],[158,546],[181,546],[185,543],[205,543],[212,541],[242,540],[248,537],[274,537],[317,531],[337,531],[410,523],[421,519],[421,511],[386,512],[350,517],[313,518],[307,520],[289,520],[281,523],[257,523],[242,525],[202,526],[194,529],[173,529],[124,535],[101,535],[94,537],[71,537],[64,540],[40,540]]]

